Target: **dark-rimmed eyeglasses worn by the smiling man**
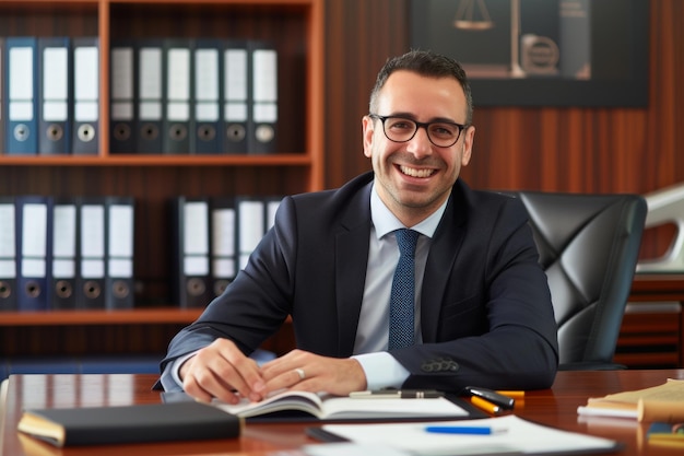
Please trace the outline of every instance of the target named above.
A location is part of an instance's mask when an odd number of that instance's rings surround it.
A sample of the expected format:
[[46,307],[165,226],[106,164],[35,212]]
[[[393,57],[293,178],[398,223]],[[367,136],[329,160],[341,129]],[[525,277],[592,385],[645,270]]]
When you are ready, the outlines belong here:
[[418,128],[425,128],[429,142],[438,148],[450,148],[461,137],[461,131],[468,126],[450,121],[420,122],[400,116],[379,116],[368,114],[372,119],[382,122],[382,131],[387,139],[393,142],[408,142],[413,139]]

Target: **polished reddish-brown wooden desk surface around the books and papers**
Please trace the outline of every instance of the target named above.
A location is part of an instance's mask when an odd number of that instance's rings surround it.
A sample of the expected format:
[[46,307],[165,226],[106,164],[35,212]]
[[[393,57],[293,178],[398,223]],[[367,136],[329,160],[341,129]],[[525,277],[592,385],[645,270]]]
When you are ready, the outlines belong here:
[[[558,429],[614,439],[624,443],[621,455],[681,455],[682,449],[651,446],[645,439],[648,423],[578,417],[588,397],[657,386],[667,378],[684,379],[684,370],[559,372],[551,389],[528,391],[516,414]],[[0,442],[3,456],[21,455],[243,455],[295,454],[315,443],[304,434],[307,424],[247,424],[235,440],[160,444],[54,448],[20,437],[16,422],[24,408],[86,407],[160,402],[151,390],[154,375],[14,375],[10,377]]]

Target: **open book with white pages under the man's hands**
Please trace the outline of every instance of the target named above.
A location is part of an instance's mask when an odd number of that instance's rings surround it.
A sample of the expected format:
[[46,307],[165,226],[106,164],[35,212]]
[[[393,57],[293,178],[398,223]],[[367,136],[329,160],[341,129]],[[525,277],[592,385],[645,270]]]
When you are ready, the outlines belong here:
[[[299,420],[304,418],[338,420],[459,419],[469,411],[446,397],[431,399],[352,398],[309,391],[284,391],[260,402],[243,399],[237,405],[216,401],[214,406],[243,418],[266,417]],[[295,413],[293,413],[295,412]],[[298,412],[298,413],[296,413]]]

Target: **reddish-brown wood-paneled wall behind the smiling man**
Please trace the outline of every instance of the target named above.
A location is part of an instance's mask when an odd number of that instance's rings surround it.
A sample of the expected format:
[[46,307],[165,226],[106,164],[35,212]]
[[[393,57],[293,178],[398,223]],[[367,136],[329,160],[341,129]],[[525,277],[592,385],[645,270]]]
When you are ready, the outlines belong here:
[[[326,3],[329,188],[370,167],[361,117],[387,57],[409,49],[408,9],[409,0]],[[684,1],[650,1],[649,20],[647,108],[475,107],[465,182],[474,188],[637,194],[684,182]]]

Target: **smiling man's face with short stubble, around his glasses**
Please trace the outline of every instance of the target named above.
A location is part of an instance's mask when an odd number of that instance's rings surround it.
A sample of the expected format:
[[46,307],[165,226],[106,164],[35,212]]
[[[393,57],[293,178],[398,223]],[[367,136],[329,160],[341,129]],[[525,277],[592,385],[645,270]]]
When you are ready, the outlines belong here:
[[[465,113],[465,94],[456,79],[402,70],[388,78],[373,114],[463,125]],[[433,144],[425,128],[408,142],[393,142],[381,120],[363,118],[364,154],[372,160],[378,195],[404,225],[421,222],[448,198],[461,166],[470,162],[474,133],[474,127],[463,130],[449,148]]]

